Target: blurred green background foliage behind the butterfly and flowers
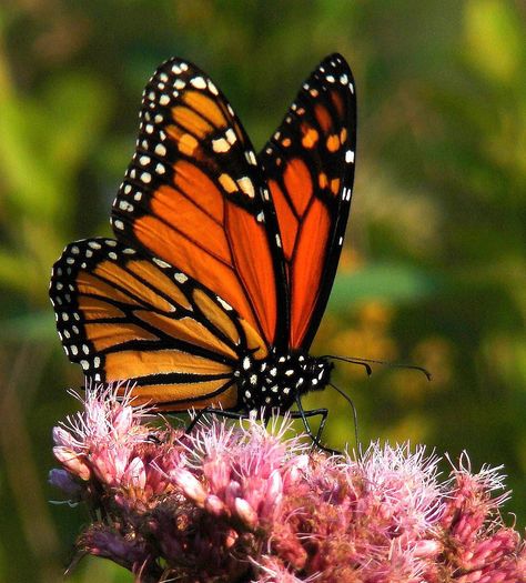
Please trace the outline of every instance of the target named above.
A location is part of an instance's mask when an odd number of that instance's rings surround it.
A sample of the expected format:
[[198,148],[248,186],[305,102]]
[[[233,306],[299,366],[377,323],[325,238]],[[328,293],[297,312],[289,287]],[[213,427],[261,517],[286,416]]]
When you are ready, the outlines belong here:
[[[194,61],[259,149],[332,51],[356,78],[357,175],[313,353],[427,366],[431,383],[337,366],[361,439],[505,464],[506,511],[526,524],[526,4],[18,0],[0,7],[0,580],[60,581],[87,520],[49,503],[51,428],[81,374],[47,289],[65,243],[110,232],[145,81]],[[322,403],[326,440],[352,440],[348,406],[331,390],[307,404]],[[70,577],[95,580],[131,576],[88,559]]]

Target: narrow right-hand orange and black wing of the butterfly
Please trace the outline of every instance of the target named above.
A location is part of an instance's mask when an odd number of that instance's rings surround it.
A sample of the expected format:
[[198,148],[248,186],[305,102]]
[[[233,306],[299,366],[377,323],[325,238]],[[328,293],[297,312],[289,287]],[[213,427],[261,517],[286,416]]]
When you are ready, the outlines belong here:
[[290,346],[307,350],[342,249],[354,180],[356,96],[340,54],[323,60],[259,155],[290,288]]

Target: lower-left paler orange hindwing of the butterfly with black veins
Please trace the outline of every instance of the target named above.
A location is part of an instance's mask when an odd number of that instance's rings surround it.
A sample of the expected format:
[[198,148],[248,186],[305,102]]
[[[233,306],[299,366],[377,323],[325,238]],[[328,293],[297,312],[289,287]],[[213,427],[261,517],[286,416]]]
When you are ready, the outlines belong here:
[[136,383],[135,404],[235,410],[240,354],[266,354],[263,339],[223,299],[112,239],[68,245],[50,296],[69,359],[94,381]]

